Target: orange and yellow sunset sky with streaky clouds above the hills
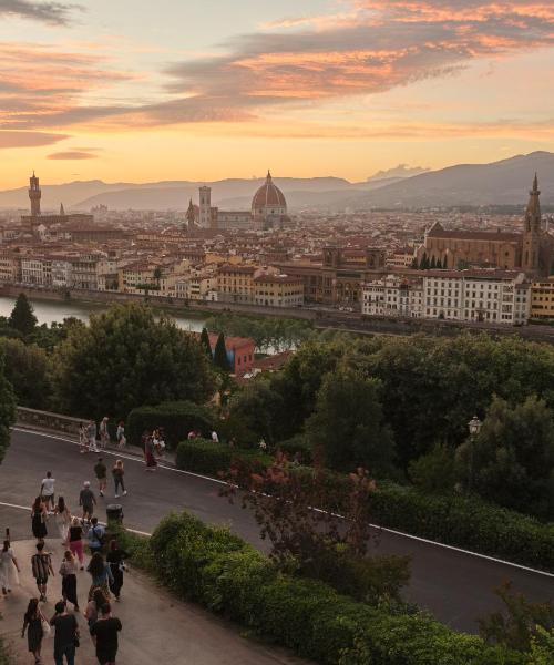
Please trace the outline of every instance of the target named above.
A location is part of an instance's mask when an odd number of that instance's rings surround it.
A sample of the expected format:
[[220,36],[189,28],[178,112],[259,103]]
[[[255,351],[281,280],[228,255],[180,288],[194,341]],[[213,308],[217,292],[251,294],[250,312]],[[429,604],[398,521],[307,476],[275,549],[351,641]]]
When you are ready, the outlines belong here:
[[554,151],[554,0],[0,0],[0,188]]

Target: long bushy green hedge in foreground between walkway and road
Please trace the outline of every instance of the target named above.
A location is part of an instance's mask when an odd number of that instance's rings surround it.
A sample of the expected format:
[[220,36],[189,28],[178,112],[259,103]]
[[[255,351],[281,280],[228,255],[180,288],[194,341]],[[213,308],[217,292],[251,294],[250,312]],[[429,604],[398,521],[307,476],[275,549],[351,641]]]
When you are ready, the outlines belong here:
[[147,551],[141,561],[182,598],[325,665],[526,663],[523,654],[455,633],[425,613],[390,614],[321,582],[283,574],[238,536],[187,513],[163,520],[134,553],[140,549]]

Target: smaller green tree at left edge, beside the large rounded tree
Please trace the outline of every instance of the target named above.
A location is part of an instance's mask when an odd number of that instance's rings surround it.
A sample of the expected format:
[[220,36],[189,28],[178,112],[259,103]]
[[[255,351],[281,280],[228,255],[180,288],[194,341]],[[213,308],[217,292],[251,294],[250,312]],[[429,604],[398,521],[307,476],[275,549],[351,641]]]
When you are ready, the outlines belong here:
[[4,357],[6,378],[13,387],[18,405],[45,409],[52,391],[45,351],[20,339],[1,338],[0,352]]

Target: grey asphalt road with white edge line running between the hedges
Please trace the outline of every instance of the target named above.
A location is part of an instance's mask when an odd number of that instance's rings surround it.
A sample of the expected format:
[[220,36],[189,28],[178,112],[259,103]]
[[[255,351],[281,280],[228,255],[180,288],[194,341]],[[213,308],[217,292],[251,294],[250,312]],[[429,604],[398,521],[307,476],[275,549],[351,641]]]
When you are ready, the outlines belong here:
[[[95,457],[80,454],[73,443],[16,431],[0,467],[0,501],[30,505],[45,471],[51,470],[57,493],[63,493],[70,509],[76,508],[81,483],[93,480],[94,462]],[[167,512],[186,509],[206,522],[228,525],[256,546],[267,546],[259,540],[252,515],[219,498],[215,482],[170,469],[156,473],[145,473],[143,469],[141,461],[125,461],[130,493],[120,501],[127,526],[151,532]],[[113,501],[113,494],[105,502],[109,501]],[[99,514],[104,516],[103,505]],[[4,519],[0,511],[2,531],[9,525]],[[515,589],[531,600],[554,598],[554,577],[506,564],[390,533],[381,534],[377,550],[409,554],[412,577],[406,597],[458,630],[476,631],[475,618],[497,608],[492,590],[505,580],[512,580]]]

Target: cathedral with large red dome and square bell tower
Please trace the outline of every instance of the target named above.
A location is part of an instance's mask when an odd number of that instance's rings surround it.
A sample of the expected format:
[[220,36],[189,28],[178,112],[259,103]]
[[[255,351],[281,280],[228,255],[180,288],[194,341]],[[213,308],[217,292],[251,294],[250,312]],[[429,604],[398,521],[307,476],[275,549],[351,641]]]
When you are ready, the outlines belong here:
[[211,187],[201,187],[199,205],[195,206],[191,200],[186,219],[191,231],[195,227],[268,231],[283,228],[289,222],[285,195],[274,183],[269,171],[266,182],[254,195],[249,211],[220,211],[213,207]]

